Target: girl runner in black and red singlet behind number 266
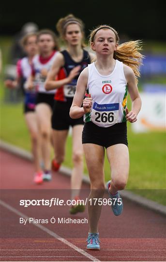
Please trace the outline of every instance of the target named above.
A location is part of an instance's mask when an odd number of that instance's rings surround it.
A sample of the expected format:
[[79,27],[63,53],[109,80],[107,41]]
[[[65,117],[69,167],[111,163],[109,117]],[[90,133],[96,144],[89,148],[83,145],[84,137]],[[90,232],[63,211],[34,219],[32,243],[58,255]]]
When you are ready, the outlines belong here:
[[[83,175],[83,148],[81,134],[83,129],[83,117],[71,119],[69,116],[75,94],[75,87],[80,72],[91,63],[93,54],[87,52],[83,47],[84,26],[80,19],[73,15],[61,18],[57,23],[57,30],[67,44],[67,49],[61,51],[52,69],[48,73],[45,88],[46,90],[57,90],[55,95],[54,112],[52,116],[53,140],[55,159],[52,161],[52,168],[57,171],[64,160],[65,143],[69,127],[72,127],[73,136],[73,164],[74,168],[71,177],[72,199],[78,199]],[[60,71],[60,72],[59,72]],[[55,77],[59,73],[57,81]],[[84,211],[83,205],[75,205],[70,213]]]

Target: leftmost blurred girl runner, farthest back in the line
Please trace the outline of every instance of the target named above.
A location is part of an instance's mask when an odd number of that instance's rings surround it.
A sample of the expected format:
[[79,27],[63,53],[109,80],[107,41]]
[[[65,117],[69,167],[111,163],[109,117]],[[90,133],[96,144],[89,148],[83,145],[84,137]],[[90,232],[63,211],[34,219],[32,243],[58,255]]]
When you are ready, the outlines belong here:
[[20,59],[17,62],[17,78],[15,81],[6,80],[5,84],[9,88],[16,88],[20,84],[24,86],[24,114],[25,120],[30,131],[32,154],[34,158],[35,176],[34,182],[42,183],[42,170],[40,167],[40,147],[37,127],[37,118],[35,114],[36,93],[26,89],[26,81],[31,74],[31,64],[34,55],[37,53],[37,36],[35,33],[27,34],[23,37],[21,44],[27,57]]

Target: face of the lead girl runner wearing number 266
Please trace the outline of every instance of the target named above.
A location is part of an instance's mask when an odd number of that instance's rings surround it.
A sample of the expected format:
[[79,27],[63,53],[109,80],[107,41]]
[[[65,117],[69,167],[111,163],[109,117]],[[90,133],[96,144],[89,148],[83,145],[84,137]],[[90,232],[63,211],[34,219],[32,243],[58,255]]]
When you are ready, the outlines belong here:
[[101,29],[95,36],[93,43],[91,43],[92,50],[103,55],[110,55],[117,49],[115,33],[110,29]]

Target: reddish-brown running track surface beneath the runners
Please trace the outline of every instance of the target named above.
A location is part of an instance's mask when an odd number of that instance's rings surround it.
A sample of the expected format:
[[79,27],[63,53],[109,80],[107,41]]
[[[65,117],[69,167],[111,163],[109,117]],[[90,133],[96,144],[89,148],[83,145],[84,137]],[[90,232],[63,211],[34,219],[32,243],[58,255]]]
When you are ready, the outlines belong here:
[[[0,261],[166,261],[166,220],[161,214],[125,199],[120,217],[109,206],[103,207],[101,250],[90,251],[86,250],[88,224],[19,223],[20,217],[88,218],[87,209],[70,215],[66,206],[19,205],[20,199],[70,199],[68,177],[54,173],[51,182],[37,186],[33,164],[5,151],[1,151],[1,176]],[[87,197],[89,186],[82,188],[81,196]]]

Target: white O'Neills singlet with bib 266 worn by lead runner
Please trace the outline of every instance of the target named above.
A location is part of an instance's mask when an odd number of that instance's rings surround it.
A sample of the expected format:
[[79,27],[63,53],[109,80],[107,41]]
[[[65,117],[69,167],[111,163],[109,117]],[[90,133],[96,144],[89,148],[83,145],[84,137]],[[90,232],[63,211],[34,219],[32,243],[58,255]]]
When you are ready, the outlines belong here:
[[91,94],[91,112],[84,115],[84,122],[93,122],[99,127],[110,127],[125,122],[127,105],[127,82],[123,63],[116,60],[112,73],[102,76],[94,63],[88,65],[87,93]]

